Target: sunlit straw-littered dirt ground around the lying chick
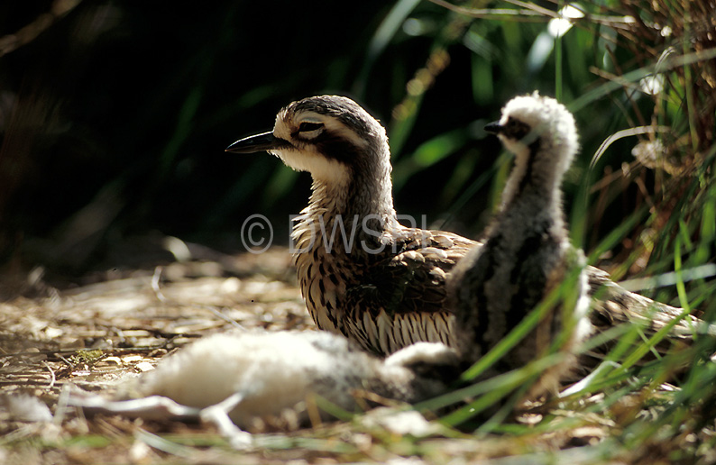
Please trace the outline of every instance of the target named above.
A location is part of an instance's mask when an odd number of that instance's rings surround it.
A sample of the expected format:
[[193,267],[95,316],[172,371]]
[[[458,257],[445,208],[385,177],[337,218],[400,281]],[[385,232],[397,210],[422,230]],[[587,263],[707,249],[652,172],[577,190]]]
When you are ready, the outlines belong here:
[[557,451],[580,461],[586,449],[574,446],[619,430],[601,415],[555,411],[556,420],[576,419],[574,427],[480,438],[415,412],[398,417],[377,409],[345,422],[256,434],[254,446],[235,451],[213,425],[86,417],[65,406],[70,385],[111,393],[117,380],[152,369],[162,356],[207,334],[315,331],[286,249],[192,257],[97,271],[74,285],[50,284],[55,281],[41,269],[4,279],[0,463],[462,463],[520,451],[537,461]]

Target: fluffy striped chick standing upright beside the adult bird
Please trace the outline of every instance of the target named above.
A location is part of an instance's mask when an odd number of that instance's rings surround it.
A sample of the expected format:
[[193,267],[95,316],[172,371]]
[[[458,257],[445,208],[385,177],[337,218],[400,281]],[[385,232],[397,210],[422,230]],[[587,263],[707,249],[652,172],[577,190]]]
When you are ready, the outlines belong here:
[[[559,378],[574,367],[574,344],[592,331],[588,272],[582,252],[569,241],[560,189],[578,148],[574,117],[555,99],[535,93],[510,100],[500,121],[485,129],[498,135],[515,162],[484,244],[448,277],[459,348],[467,360],[478,360],[571,273],[578,273],[572,298],[546,309],[534,329],[500,360],[503,371],[550,350],[563,352],[563,361],[540,377],[529,396],[555,392]],[[553,347],[561,336],[564,341]]]

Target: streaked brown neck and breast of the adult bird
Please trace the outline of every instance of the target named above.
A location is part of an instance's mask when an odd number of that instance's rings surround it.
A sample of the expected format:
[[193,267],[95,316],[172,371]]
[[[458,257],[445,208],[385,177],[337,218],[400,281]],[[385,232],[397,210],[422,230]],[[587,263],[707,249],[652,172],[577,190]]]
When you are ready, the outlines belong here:
[[390,160],[372,169],[345,169],[340,182],[314,176],[308,206],[292,237],[301,293],[319,328],[343,333],[344,298],[364,264],[399,228],[391,195]]

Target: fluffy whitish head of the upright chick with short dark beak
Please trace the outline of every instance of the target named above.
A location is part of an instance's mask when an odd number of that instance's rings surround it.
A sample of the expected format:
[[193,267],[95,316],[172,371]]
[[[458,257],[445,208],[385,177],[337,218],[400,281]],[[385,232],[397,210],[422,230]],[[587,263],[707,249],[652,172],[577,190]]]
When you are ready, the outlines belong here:
[[578,148],[574,116],[554,98],[537,92],[517,96],[502,108],[500,121],[485,126],[494,132],[517,163],[529,163],[557,178],[569,168]]

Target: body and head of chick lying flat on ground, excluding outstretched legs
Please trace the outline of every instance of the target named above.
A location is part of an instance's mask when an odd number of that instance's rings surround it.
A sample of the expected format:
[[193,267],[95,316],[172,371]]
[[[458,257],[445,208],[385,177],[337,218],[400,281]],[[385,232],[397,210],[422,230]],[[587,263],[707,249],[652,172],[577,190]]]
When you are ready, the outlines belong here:
[[[278,417],[311,395],[345,410],[357,406],[357,390],[417,402],[445,389],[442,370],[456,367],[456,360],[441,343],[411,345],[381,360],[326,332],[217,334],[162,360],[140,380],[138,392],[197,407],[240,392],[243,401],[229,416],[249,427],[254,418]],[[299,424],[306,419],[298,418]]]

